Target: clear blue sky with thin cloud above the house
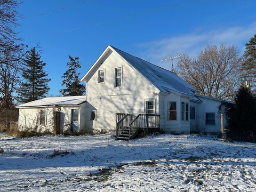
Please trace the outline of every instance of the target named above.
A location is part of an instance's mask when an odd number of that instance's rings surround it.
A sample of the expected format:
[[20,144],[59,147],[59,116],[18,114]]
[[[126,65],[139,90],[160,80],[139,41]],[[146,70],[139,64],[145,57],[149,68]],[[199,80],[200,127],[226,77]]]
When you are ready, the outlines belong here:
[[164,57],[196,57],[208,43],[244,44],[256,33],[256,1],[25,0],[18,31],[30,47],[39,44],[58,95],[68,54],[79,57],[81,77],[107,45],[169,68]]

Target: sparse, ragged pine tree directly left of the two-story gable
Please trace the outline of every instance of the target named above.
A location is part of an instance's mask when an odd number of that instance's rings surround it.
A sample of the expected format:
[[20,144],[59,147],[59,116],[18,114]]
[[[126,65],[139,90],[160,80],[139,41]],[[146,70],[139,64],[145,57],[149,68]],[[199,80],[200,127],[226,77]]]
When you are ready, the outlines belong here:
[[69,57],[69,62],[67,62],[68,70],[63,74],[62,84],[66,85],[66,89],[61,89],[60,93],[63,96],[76,96],[76,95],[83,95],[85,93],[85,86],[80,84],[79,82],[79,75],[77,73],[77,68],[81,68],[80,62],[78,61],[78,57]]

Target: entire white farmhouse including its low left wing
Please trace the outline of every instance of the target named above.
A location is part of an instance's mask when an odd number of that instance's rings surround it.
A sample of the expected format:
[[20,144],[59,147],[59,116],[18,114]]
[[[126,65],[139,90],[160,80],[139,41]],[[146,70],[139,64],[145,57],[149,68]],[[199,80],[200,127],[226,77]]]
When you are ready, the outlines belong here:
[[[230,102],[199,95],[172,71],[110,45],[81,81],[87,84],[86,96],[45,98],[17,106],[19,129],[39,119],[39,129],[116,131],[118,138],[125,139],[141,131],[220,133],[219,106]],[[61,125],[53,121],[58,114],[50,117],[54,111],[60,112]]]

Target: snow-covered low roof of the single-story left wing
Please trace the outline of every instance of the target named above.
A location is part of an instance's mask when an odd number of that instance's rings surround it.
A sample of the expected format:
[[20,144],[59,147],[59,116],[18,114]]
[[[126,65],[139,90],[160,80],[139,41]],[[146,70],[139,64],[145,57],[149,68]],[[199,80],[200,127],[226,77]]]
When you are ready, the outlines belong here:
[[86,96],[49,97],[18,105],[16,107],[72,106],[86,102]]

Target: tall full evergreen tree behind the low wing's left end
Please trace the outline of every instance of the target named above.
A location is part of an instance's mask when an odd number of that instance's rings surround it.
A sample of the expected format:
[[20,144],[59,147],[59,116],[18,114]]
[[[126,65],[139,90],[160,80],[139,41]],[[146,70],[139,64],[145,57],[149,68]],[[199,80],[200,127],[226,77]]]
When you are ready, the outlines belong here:
[[50,90],[48,82],[51,79],[47,78],[48,74],[44,71],[45,65],[35,48],[31,49],[22,69],[24,81],[18,91],[20,102],[24,103],[44,98]]

